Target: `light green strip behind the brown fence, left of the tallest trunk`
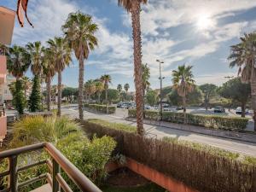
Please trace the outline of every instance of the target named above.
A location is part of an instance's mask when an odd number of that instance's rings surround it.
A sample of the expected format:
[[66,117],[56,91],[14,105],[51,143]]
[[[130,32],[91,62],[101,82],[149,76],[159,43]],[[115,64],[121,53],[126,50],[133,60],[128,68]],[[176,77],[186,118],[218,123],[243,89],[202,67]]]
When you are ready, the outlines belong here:
[[127,132],[136,132],[137,128],[135,126],[119,124],[119,123],[111,123],[107,120],[102,119],[88,119],[90,123],[94,123],[97,125],[106,126],[110,129],[119,130],[119,131],[127,131]]

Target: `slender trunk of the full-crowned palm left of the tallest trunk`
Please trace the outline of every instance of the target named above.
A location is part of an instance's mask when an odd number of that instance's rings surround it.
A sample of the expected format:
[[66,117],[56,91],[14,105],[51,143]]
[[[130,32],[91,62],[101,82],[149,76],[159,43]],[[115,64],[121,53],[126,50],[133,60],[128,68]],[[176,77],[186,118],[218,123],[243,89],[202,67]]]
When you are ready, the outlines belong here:
[[84,49],[80,46],[79,56],[79,119],[84,119],[83,114],[83,87],[84,87]]

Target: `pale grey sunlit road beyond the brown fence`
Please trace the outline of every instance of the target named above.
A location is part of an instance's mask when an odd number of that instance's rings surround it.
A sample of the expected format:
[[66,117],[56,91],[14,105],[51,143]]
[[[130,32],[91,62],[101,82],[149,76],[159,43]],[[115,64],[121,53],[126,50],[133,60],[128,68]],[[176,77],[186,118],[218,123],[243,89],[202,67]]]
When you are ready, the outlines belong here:
[[[66,114],[72,118],[78,118],[79,112],[78,108],[62,108],[62,114]],[[84,111],[84,119],[105,119],[110,122],[116,123],[125,123],[128,125],[135,125],[136,123],[125,120],[125,116],[127,115],[127,110],[125,109],[117,109],[117,113],[115,114],[98,114],[98,113],[90,113]],[[195,143],[202,143],[211,145],[217,148],[223,148],[225,150],[229,150],[231,152],[251,155],[256,157],[256,144],[254,143],[246,143],[240,142],[236,140],[231,140],[222,137],[211,137],[198,133],[193,133],[189,131],[181,131],[156,125],[144,125],[145,131],[150,134],[152,137],[156,136],[157,138],[162,137],[176,137],[179,140],[186,140]]]

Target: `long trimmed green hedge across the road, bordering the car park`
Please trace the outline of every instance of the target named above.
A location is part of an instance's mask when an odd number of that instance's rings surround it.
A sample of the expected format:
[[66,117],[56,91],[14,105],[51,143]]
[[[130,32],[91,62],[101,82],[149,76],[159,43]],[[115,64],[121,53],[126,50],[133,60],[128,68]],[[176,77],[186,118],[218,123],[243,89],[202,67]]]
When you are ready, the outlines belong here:
[[[129,109],[128,116],[135,118],[136,109]],[[160,113],[158,111],[146,110],[145,118],[158,120],[160,119]],[[163,112],[163,120],[167,122],[183,124],[184,113]],[[189,125],[197,125],[224,131],[243,131],[247,127],[247,122],[247,118],[186,113],[186,123]]]

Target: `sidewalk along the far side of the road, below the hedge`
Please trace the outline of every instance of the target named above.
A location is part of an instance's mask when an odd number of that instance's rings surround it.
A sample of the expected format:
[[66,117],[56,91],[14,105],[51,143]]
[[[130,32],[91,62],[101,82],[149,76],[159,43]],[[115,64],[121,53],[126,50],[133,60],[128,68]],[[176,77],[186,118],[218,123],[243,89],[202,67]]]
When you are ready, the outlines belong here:
[[[134,118],[126,118],[126,120],[129,120],[132,122],[136,121],[136,119]],[[156,121],[156,120],[148,120],[148,119],[143,119],[143,122],[144,124],[148,124],[148,125],[157,125],[157,126],[162,126],[162,127],[172,128],[172,129],[177,129],[182,131],[195,132],[195,133],[200,133],[207,136],[224,137],[224,138],[230,138],[230,139],[234,139],[242,142],[256,143],[256,134],[253,134],[253,133],[213,130],[213,129],[207,129],[201,126],[174,124],[166,121]]]

